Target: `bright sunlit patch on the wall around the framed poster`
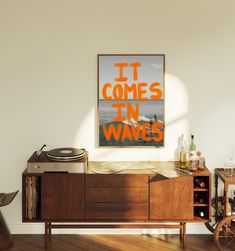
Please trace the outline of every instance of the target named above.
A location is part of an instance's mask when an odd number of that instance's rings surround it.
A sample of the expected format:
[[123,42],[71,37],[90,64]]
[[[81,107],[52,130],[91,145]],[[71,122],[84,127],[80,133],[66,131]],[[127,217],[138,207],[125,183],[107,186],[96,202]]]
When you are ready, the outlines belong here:
[[[177,159],[178,139],[188,135],[188,92],[181,79],[165,75],[165,147],[156,148],[97,148],[97,107],[92,107],[79,125],[74,147],[84,147],[91,160],[169,160]],[[132,157],[133,156],[133,157]]]

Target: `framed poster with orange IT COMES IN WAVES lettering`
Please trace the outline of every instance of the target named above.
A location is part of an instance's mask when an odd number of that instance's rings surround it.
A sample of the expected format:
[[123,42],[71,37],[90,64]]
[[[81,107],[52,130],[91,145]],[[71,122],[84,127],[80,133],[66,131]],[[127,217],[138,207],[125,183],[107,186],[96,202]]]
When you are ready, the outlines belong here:
[[98,146],[164,146],[163,54],[98,55]]

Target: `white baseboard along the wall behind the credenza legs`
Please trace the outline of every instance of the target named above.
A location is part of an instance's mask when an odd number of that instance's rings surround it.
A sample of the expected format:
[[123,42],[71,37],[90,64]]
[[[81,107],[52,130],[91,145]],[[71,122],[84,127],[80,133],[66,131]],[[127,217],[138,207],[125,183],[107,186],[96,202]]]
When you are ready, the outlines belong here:
[[[42,223],[9,224],[12,234],[44,234]],[[210,234],[204,224],[187,224],[187,234]],[[54,229],[55,234],[178,234],[174,229]]]

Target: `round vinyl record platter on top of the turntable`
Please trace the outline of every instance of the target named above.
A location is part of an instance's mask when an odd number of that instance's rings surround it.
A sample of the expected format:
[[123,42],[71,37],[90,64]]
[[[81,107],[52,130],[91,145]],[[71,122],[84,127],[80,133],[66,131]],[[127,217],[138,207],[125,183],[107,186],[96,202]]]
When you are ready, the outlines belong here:
[[83,158],[85,154],[84,149],[67,147],[52,149],[48,151],[47,156],[57,161],[72,161]]

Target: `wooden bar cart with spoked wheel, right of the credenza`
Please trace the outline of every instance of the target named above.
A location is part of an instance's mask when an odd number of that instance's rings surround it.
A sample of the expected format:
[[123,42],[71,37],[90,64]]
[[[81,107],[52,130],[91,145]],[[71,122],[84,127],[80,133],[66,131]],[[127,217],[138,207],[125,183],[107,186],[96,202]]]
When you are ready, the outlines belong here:
[[[219,180],[223,183],[223,196],[218,195]],[[215,169],[215,198],[211,205],[212,221],[206,227],[214,233],[214,240],[220,250],[235,250],[235,214],[232,207],[235,201],[229,198],[229,186],[235,185],[235,176],[225,176],[223,168]]]

